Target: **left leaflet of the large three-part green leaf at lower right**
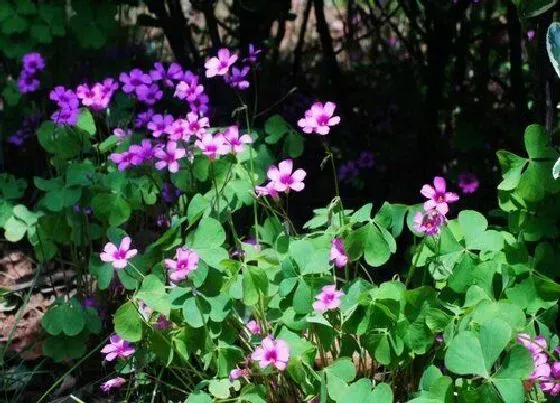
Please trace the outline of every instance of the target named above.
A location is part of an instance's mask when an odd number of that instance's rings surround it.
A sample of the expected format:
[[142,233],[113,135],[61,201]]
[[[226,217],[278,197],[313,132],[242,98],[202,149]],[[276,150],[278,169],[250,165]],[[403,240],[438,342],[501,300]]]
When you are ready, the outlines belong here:
[[484,378],[486,370],[480,341],[473,332],[464,331],[453,338],[445,353],[445,367],[459,375],[475,374]]

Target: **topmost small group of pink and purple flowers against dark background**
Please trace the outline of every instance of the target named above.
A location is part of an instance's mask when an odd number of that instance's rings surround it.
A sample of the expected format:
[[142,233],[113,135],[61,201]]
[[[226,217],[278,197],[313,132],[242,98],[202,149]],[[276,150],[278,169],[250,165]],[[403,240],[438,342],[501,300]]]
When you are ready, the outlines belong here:
[[[250,44],[247,58],[242,61],[255,64],[257,63],[260,52],[261,51],[257,49],[255,45]],[[235,66],[234,64],[238,60],[239,56],[232,53],[229,49],[223,48],[218,50],[216,56],[211,57],[204,63],[206,77],[222,77],[224,82],[229,84],[231,88],[246,90],[250,86],[247,80],[250,67],[248,65]]]

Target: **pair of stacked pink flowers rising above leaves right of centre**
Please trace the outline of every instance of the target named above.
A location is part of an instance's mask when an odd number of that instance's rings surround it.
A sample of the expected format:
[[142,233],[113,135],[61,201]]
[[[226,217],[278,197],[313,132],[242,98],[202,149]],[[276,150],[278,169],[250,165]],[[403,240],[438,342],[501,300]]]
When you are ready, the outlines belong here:
[[443,224],[445,215],[449,211],[449,203],[459,200],[459,196],[453,192],[447,192],[445,179],[441,176],[434,178],[434,184],[424,185],[420,193],[428,200],[424,202],[424,212],[414,215],[414,229],[427,236],[436,235]]

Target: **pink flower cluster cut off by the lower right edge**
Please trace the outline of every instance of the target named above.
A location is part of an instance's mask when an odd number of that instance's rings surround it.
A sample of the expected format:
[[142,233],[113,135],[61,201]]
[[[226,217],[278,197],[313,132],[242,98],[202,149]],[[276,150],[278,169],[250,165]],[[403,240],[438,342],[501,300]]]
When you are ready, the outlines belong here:
[[532,387],[534,383],[538,383],[543,392],[551,396],[560,395],[560,361],[550,360],[546,339],[543,336],[531,339],[528,334],[520,333],[517,335],[517,342],[529,350],[535,365],[535,369],[529,375],[528,386]]

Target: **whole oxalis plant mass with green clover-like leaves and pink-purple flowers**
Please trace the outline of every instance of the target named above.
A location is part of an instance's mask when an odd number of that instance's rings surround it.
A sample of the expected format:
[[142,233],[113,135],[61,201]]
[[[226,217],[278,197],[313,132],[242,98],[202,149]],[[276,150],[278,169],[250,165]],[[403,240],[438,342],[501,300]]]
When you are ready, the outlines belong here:
[[[75,360],[71,370],[105,360],[99,394],[125,401],[558,395],[560,183],[544,128],[527,128],[526,155],[498,152],[492,224],[452,211],[459,196],[441,176],[419,185],[417,205],[352,211],[328,142],[335,104],[310,105],[299,130],[280,116],[255,128],[245,90],[259,50],[244,53],[221,49],[205,64],[208,80],[238,95],[227,127],[211,126],[206,81],[175,63],[47,91],[41,196],[18,204],[26,184],[4,174],[0,203],[6,239],[26,237],[40,263],[76,272],[78,293],[43,317],[44,354]],[[42,91],[48,61],[23,62],[20,91]],[[304,136],[324,146],[333,199],[297,228],[289,200],[309,180]],[[406,270],[386,266],[398,237],[413,239]]]

